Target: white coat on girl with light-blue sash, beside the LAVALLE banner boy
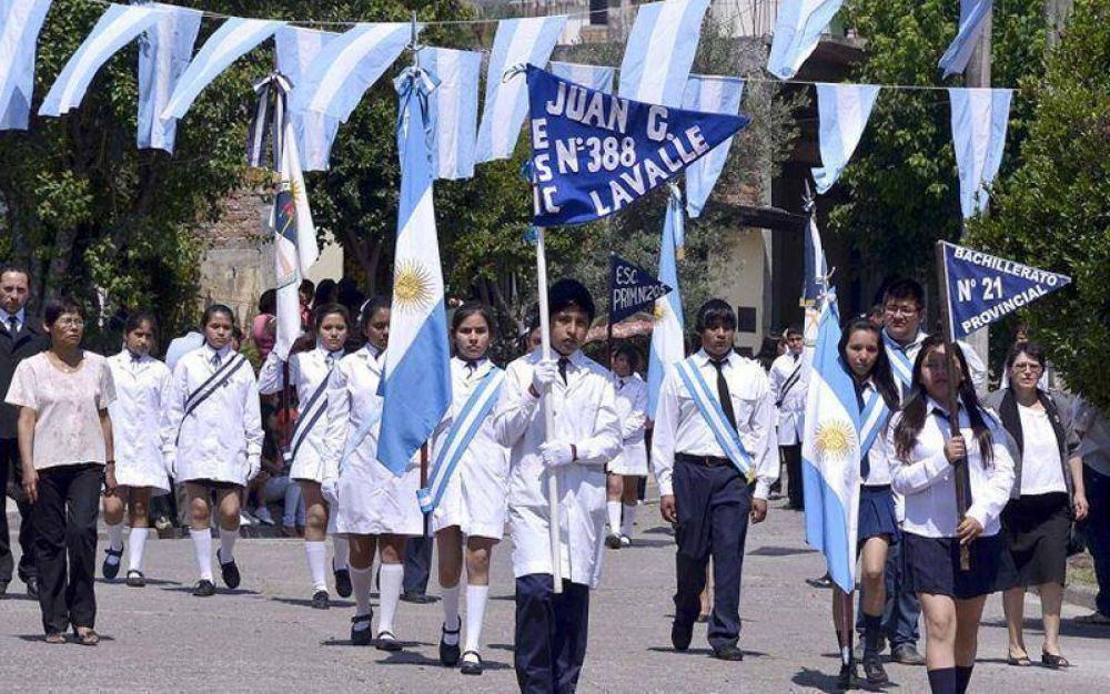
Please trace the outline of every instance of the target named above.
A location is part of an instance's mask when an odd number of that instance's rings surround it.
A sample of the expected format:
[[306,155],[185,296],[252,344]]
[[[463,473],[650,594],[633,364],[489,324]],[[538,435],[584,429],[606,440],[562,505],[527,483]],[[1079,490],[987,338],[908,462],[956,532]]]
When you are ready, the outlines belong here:
[[[466,361],[451,360],[451,409],[444,416],[432,442],[432,460],[446,443],[447,432],[466,406],[475,387],[496,368],[483,360],[472,376]],[[494,406],[496,407],[496,405]],[[455,473],[447,481],[440,504],[432,512],[432,531],[457,525],[463,534],[501,540],[505,533],[508,499],[508,449],[494,435],[493,410],[458,459]]]

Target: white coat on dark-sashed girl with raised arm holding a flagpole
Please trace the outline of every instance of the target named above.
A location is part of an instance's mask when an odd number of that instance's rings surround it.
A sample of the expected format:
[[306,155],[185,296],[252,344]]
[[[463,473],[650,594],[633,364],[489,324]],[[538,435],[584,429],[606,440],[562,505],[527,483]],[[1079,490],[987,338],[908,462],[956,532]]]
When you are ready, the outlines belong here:
[[[340,350],[337,357],[343,356]],[[336,364],[339,360],[336,359]],[[290,443],[293,466],[289,477],[294,480],[323,480],[324,431],[327,428],[327,386],[325,381],[331,374],[327,366],[327,350],[316,346],[311,351],[301,351],[289,358],[289,382],[296,388],[300,412],[293,429]],[[310,404],[319,388],[324,391]],[[278,354],[271,351],[259,371],[259,392],[269,395],[279,392],[282,388],[282,361]],[[303,430],[309,427],[307,432]]]

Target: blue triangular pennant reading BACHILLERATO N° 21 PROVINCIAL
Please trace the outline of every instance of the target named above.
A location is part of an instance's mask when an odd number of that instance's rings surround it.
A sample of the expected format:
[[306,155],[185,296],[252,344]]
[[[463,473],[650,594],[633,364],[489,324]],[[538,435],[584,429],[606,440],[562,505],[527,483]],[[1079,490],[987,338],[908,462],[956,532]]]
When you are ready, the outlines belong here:
[[1071,277],[940,242],[949,327],[959,339],[1071,284]]

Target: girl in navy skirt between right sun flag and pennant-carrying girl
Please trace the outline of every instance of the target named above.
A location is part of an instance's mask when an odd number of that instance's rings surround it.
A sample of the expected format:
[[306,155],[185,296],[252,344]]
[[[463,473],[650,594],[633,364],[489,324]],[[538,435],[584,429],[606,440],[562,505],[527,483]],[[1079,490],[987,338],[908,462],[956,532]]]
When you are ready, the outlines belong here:
[[[857,554],[860,558],[864,615],[864,674],[868,686],[890,682],[879,662],[882,640],[882,608],[886,603],[884,573],[891,544],[901,538],[895,494],[890,488],[890,466],[884,455],[884,430],[890,412],[898,410],[898,389],[890,375],[890,363],[882,348],[880,328],[869,318],[856,318],[840,336],[840,359],[851,376],[860,420],[859,512]],[[851,603],[854,593],[833,588],[833,620],[844,652],[850,646]],[[859,685],[854,655],[842,663],[837,685],[840,690]]]

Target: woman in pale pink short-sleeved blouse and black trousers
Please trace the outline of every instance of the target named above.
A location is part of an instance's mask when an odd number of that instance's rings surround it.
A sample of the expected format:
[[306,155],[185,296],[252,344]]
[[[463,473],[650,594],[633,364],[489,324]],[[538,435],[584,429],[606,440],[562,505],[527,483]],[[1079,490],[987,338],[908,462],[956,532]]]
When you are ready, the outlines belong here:
[[39,606],[47,643],[97,645],[97,514],[100,490],[115,490],[112,423],[115,399],[104,357],[81,349],[84,316],[72,299],[46,308],[48,351],[16,368],[6,400],[19,407],[23,490],[31,502]]

